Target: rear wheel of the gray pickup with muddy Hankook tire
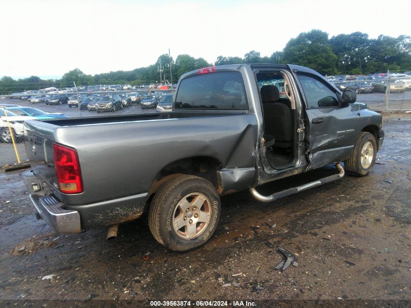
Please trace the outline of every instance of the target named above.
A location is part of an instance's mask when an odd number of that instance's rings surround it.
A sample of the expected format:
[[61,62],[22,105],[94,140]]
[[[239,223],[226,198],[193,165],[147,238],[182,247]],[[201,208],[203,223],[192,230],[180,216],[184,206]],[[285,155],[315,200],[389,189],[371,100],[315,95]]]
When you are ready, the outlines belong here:
[[[194,203],[200,205],[196,208]],[[186,204],[189,206],[182,211]],[[220,209],[220,197],[209,181],[182,175],[165,182],[157,191],[150,206],[148,222],[151,233],[160,244],[173,251],[186,252],[203,245],[213,236],[220,219]],[[199,221],[201,216],[206,217],[206,221]],[[176,230],[177,221],[185,224],[179,230]],[[187,234],[190,225],[195,228],[192,235]]]

